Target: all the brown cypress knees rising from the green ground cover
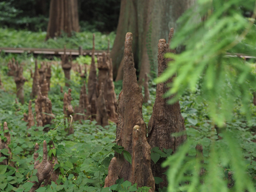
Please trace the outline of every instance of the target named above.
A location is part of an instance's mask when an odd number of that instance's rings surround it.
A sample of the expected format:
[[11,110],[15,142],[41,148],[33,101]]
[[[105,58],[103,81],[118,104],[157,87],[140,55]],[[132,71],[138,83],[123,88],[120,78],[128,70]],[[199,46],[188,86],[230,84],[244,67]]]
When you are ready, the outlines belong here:
[[[167,68],[168,62],[172,59],[164,57],[165,53],[175,50],[170,49],[171,38],[174,34],[174,29],[171,28],[168,43],[165,39],[160,39],[158,43],[158,76],[160,76]],[[125,51],[124,51],[124,65],[123,65],[123,89],[119,93],[118,101],[114,92],[113,73],[112,73],[112,60],[108,53],[103,53],[98,57],[98,77],[96,73],[96,64],[94,61],[94,36],[93,36],[93,50],[92,50],[92,64],[90,65],[90,72],[88,77],[88,94],[86,94],[85,81],[81,87],[79,106],[74,108],[71,105],[71,89],[68,93],[64,93],[63,111],[65,118],[68,119],[68,133],[73,133],[72,120],[82,119],[96,119],[97,123],[102,127],[108,125],[108,120],[117,123],[116,140],[115,142],[122,146],[126,151],[131,154],[132,164],[125,160],[123,154],[115,152],[115,157],[110,161],[108,176],[105,179],[105,187],[115,184],[118,178],[123,178],[131,183],[137,183],[138,187],[148,186],[151,187],[150,191],[157,190],[158,187],[163,188],[168,185],[166,174],[167,168],[162,168],[161,164],[165,158],[160,158],[156,164],[151,160],[151,149],[159,147],[160,150],[172,149],[173,153],[177,147],[184,143],[187,139],[184,127],[184,118],[180,113],[180,105],[177,101],[172,105],[168,105],[167,101],[173,96],[164,98],[163,94],[169,89],[168,84],[172,82],[172,78],[164,83],[156,86],[156,99],[152,111],[152,116],[146,126],[142,115],[143,102],[147,102],[149,98],[148,91],[148,78],[145,74],[144,81],[144,98],[142,96],[141,86],[138,85],[136,69],[134,68],[134,58],[132,52],[133,34],[127,33],[125,37]],[[65,78],[70,80],[70,71],[72,68],[72,57],[65,54],[61,57],[61,65],[64,70]],[[20,102],[24,102],[23,85],[26,79],[23,77],[23,69],[15,60],[10,61],[9,76],[14,76],[17,88],[17,97]],[[84,73],[80,71],[81,78],[86,79],[86,68]],[[38,69],[35,63],[35,72],[31,73],[33,77],[31,98],[35,100],[35,112],[37,126],[45,126],[51,124],[53,119],[52,103],[48,98],[48,90],[51,79],[51,65],[42,64]],[[1,84],[1,80],[0,80]],[[69,86],[68,82],[66,86]],[[86,112],[85,112],[86,111]],[[51,115],[47,115],[51,114]],[[73,115],[73,116],[72,116]],[[35,125],[34,114],[32,113],[31,101],[28,105],[28,114],[24,114],[24,120],[27,122],[27,128]],[[4,123],[4,130],[7,130],[7,123]],[[49,128],[44,128],[44,131],[49,131]],[[172,133],[181,132],[179,136],[173,136]],[[7,141],[1,141],[0,149],[7,148],[10,156],[0,162],[0,164],[7,164],[8,158],[11,158],[11,151],[8,144],[11,142],[10,133],[6,132],[5,136]],[[54,144],[50,144],[55,148]],[[54,170],[57,164],[57,157],[51,155],[48,159],[47,143],[43,143],[43,160],[39,163],[37,160],[39,149],[38,144],[35,145],[34,169],[38,169],[36,176],[38,182],[34,182],[30,191],[35,191],[44,181],[44,185],[56,182],[59,172],[58,169]],[[203,148],[197,145],[199,154],[203,154]],[[0,153],[0,157],[3,154]],[[203,156],[203,155],[200,155]],[[14,166],[14,165],[12,165]],[[163,182],[160,185],[155,185],[154,177],[162,178]]]

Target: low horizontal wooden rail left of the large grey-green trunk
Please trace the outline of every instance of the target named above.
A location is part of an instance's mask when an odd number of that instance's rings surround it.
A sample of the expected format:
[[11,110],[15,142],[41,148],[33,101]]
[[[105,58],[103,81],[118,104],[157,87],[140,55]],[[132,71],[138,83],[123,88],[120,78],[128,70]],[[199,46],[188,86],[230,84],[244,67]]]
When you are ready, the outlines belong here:
[[[34,53],[34,54],[49,54],[49,55],[63,55],[64,49],[47,49],[47,48],[11,48],[11,47],[0,47],[0,52],[5,53]],[[67,55],[80,55],[79,49],[66,49]],[[102,55],[102,50],[96,50],[95,55]],[[92,50],[82,50],[81,55],[92,55]]]

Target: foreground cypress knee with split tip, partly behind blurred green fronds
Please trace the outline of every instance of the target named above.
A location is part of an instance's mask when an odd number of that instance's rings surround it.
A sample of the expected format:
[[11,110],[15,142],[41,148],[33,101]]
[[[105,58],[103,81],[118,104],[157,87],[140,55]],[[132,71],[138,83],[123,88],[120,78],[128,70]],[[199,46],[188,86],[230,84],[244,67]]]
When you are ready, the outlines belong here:
[[[166,44],[165,39],[160,39],[158,44],[158,76],[160,76],[164,70],[167,69],[167,64],[170,59],[164,58],[164,54],[167,52],[175,52],[175,50],[170,50],[170,40],[174,33],[173,28],[170,31],[169,43]],[[152,116],[148,123],[148,144],[152,148],[159,147],[160,150],[172,149],[173,152],[176,151],[177,147],[182,144],[186,139],[184,118],[180,113],[179,101],[169,105],[167,101],[174,97],[163,98],[163,95],[167,93],[170,85],[172,83],[172,78],[164,83],[160,83],[156,86],[156,99],[153,107]],[[172,133],[183,132],[181,136],[172,136]],[[167,168],[162,168],[161,164],[166,158],[160,158],[156,164],[151,161],[151,168],[154,177],[161,177],[163,182],[160,183],[160,187],[167,187],[168,182],[166,178]]]

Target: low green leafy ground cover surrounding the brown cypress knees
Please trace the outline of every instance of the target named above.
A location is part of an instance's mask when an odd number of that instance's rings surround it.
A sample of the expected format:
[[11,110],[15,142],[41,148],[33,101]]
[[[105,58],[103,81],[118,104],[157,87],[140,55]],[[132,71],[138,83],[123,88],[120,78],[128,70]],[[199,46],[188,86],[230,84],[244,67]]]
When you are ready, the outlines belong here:
[[[64,74],[59,65],[60,61],[55,61],[52,65],[51,90],[48,97],[52,101],[52,112],[55,114],[51,125],[51,131],[44,133],[44,127],[32,127],[27,130],[26,122],[22,120],[23,113],[28,112],[28,101],[30,99],[32,79],[30,78],[30,68],[34,65],[34,58],[28,56],[16,56],[16,59],[24,61],[24,77],[28,82],[24,85],[25,104],[22,106],[15,103],[15,84],[13,77],[8,77],[6,63],[9,57],[1,58],[1,79],[3,82],[3,89],[0,89],[0,123],[3,127],[3,122],[8,123],[11,134],[10,148],[13,153],[13,160],[15,168],[11,166],[0,165],[0,191],[29,191],[31,183],[28,181],[36,181],[36,170],[34,170],[34,146],[39,144],[39,160],[43,156],[43,140],[53,141],[56,150],[48,148],[48,154],[56,155],[59,165],[55,169],[59,170],[60,176],[56,183],[42,186],[36,191],[148,191],[148,187],[141,187],[137,189],[136,184],[131,186],[128,181],[118,180],[117,184],[112,187],[103,188],[105,177],[108,174],[108,166],[115,151],[122,151],[122,149],[115,146],[115,124],[110,123],[110,126],[102,128],[96,126],[96,122],[85,120],[82,124],[75,122],[75,133],[67,136],[65,128],[67,123],[64,123],[63,115],[63,94],[60,93],[60,86],[64,87]],[[72,71],[71,73],[71,89],[72,89],[72,106],[79,104],[79,94],[82,82],[80,77]],[[115,82],[115,91],[117,95],[122,89],[121,82]],[[146,124],[150,119],[152,113],[152,106],[155,100],[154,82],[150,81],[150,98],[151,102],[143,105],[143,118]],[[207,105],[204,99],[197,97],[200,91],[200,86],[195,93],[185,93],[180,98],[181,113],[185,119],[185,127],[188,136],[188,157],[196,156],[195,147],[198,143],[203,145],[204,164],[209,164],[208,157],[210,154],[210,144],[218,143],[220,146],[224,145],[221,139],[222,131],[216,132],[212,126],[212,122],[208,117]],[[67,87],[64,87],[64,92],[67,92]],[[32,110],[34,112],[34,100],[32,101]],[[251,105],[250,110],[254,117],[256,114],[255,107]],[[234,117],[232,122],[226,123],[226,131],[236,133],[237,144],[243,149],[243,158],[247,164],[247,174],[251,180],[255,181],[256,177],[256,136],[255,136],[256,118],[252,119],[252,126],[249,127],[246,122],[245,114],[237,105],[234,110]],[[36,131],[38,128],[38,131]],[[30,133],[30,137],[28,136]],[[3,131],[0,132],[1,139],[4,140]],[[49,146],[48,146],[49,147]],[[1,151],[3,154],[6,152]],[[157,162],[160,157],[169,156],[171,151],[166,150],[160,152],[154,148],[151,153],[151,158]],[[129,156],[129,155],[128,155]],[[2,158],[3,159],[3,158]],[[0,160],[2,160],[0,158]],[[129,159],[129,157],[127,157]],[[228,183],[228,172],[231,166],[221,166],[222,175],[219,179]],[[189,176],[191,173],[187,173]],[[155,178],[156,183],[161,182],[160,178]],[[159,191],[165,191],[160,189]],[[182,190],[180,190],[182,191]]]

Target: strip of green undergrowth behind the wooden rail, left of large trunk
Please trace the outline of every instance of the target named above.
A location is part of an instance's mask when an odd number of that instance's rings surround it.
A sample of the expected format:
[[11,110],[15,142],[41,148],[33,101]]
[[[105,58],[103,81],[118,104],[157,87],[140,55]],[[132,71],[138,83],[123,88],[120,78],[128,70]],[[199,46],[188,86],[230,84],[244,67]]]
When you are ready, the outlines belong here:
[[[108,49],[108,39],[110,40],[110,48],[115,39],[115,33],[109,35],[95,32],[95,49]],[[74,33],[72,37],[63,34],[61,37],[55,37],[44,41],[46,32],[31,32],[26,30],[13,30],[10,28],[0,28],[0,47],[13,48],[64,48],[66,45],[69,49],[92,49],[93,33],[89,31]]]

